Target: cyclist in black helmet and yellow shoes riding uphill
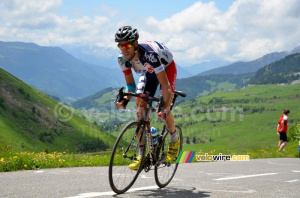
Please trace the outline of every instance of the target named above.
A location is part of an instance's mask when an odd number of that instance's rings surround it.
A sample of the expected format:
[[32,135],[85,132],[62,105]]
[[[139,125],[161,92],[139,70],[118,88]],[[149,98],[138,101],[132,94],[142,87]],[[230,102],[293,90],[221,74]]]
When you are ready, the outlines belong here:
[[[137,29],[133,29],[131,26],[123,26],[115,34],[115,41],[121,50],[118,62],[125,76],[127,84],[125,90],[154,96],[160,84],[160,95],[163,97],[165,106],[157,115],[164,119],[171,135],[171,142],[165,159],[166,162],[171,162],[174,160],[180,144],[175,130],[174,117],[170,112],[177,76],[176,64],[172,53],[162,43],[156,41],[138,42],[138,38]],[[137,74],[141,74],[137,86],[131,69]],[[130,99],[130,96],[125,96],[124,100],[117,102],[117,107],[119,109],[125,108]],[[147,104],[142,99],[137,98],[136,106],[137,119],[140,119]],[[143,142],[141,142],[142,144]],[[130,169],[138,169],[143,152],[143,147],[140,146],[139,156],[136,161],[129,165]]]

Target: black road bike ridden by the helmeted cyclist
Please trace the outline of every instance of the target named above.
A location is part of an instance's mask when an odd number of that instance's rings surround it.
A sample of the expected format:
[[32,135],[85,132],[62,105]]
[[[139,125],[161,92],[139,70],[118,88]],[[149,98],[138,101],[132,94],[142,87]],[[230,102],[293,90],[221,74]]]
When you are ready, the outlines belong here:
[[[172,162],[166,162],[168,145],[170,142],[169,131],[166,126],[157,135],[157,144],[153,143],[150,125],[150,112],[159,112],[163,107],[163,99],[151,97],[145,94],[124,93],[123,87],[119,89],[115,102],[122,101],[124,96],[139,97],[147,103],[145,112],[139,121],[129,122],[119,134],[111,153],[109,163],[109,183],[111,189],[122,194],[126,192],[136,181],[138,175],[144,170],[148,172],[154,167],[155,182],[160,188],[167,186],[174,177],[178,163],[176,160],[182,150],[182,131],[175,125],[176,133],[180,139],[175,159]],[[172,110],[178,96],[186,97],[186,94],[175,91],[170,109]],[[153,102],[158,102],[158,107],[153,107]],[[143,155],[141,163],[137,170],[128,168],[128,165],[137,160],[139,148],[142,148]]]

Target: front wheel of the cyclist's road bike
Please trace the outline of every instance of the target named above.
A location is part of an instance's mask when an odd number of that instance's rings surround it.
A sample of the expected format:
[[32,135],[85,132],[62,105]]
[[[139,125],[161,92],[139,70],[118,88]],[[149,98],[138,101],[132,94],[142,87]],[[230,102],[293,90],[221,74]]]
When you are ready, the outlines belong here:
[[[114,145],[109,163],[109,184],[111,189],[121,194],[126,192],[137,179],[142,170],[143,163],[137,170],[128,168],[139,155],[140,138],[139,131],[143,130],[140,122],[129,123],[120,133]],[[143,134],[143,131],[140,132]],[[142,162],[145,154],[142,155]]]

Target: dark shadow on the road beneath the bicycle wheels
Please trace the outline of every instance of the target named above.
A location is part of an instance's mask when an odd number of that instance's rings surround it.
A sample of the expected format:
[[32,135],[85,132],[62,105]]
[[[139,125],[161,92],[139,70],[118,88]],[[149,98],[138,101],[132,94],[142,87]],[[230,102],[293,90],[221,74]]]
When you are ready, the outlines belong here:
[[[184,189],[183,187],[167,187],[153,190],[141,190],[138,192],[125,193],[130,197],[210,197],[210,192],[198,191],[197,188],[191,187]],[[124,195],[125,195],[124,194]],[[122,197],[122,195],[114,195],[114,197]]]

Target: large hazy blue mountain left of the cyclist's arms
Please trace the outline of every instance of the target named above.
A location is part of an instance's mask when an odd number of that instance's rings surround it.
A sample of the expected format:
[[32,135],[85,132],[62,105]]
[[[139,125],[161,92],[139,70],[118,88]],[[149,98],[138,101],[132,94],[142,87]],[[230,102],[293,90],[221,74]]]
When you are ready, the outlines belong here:
[[31,86],[62,99],[80,98],[120,86],[119,69],[105,68],[74,58],[59,47],[0,42],[0,67]]

